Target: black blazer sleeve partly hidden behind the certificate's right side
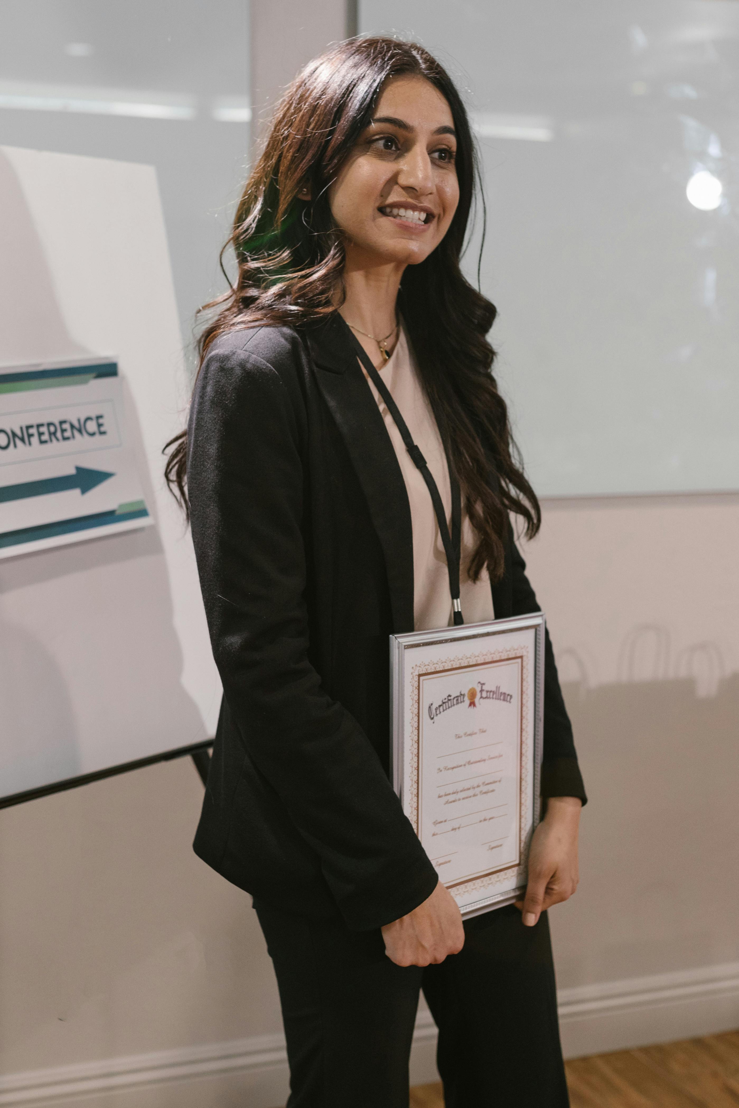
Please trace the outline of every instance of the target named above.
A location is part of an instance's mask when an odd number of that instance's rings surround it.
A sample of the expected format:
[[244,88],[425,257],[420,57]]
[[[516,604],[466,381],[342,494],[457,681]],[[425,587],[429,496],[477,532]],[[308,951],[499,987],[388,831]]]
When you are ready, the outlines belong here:
[[[541,612],[534,589],[526,577],[526,563],[515,543],[512,544],[513,615]],[[542,760],[542,797],[578,797],[587,803],[572,724],[565,708],[554,650],[548,629],[544,642],[544,753]]]

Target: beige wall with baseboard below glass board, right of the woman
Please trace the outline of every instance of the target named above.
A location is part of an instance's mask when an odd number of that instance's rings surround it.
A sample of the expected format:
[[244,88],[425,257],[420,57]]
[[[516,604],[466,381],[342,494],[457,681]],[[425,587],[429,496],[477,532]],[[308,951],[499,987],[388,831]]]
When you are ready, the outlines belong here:
[[591,799],[552,913],[573,1053],[739,1025],[738,546],[739,496],[686,496],[551,502],[527,552]]

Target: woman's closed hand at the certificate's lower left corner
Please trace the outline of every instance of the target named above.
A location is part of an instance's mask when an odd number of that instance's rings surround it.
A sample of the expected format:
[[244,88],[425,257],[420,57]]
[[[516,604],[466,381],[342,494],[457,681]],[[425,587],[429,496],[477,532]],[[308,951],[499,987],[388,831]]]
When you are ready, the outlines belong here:
[[441,881],[423,903],[382,927],[384,953],[398,966],[428,966],[459,954],[464,929],[456,901]]

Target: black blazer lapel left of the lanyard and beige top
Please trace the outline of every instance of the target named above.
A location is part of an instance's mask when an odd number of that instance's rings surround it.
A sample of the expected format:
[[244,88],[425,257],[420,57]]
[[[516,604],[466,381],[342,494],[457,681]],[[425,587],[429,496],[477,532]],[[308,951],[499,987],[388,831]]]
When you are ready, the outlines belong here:
[[413,630],[413,529],[406,482],[339,314],[306,331],[316,379],[349,452],[384,556],[396,634]]

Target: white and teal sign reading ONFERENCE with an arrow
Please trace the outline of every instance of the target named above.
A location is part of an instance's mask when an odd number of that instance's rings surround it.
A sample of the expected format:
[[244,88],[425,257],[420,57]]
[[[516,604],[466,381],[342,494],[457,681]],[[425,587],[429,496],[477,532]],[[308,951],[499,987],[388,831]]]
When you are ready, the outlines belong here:
[[151,523],[117,365],[0,369],[0,557]]

